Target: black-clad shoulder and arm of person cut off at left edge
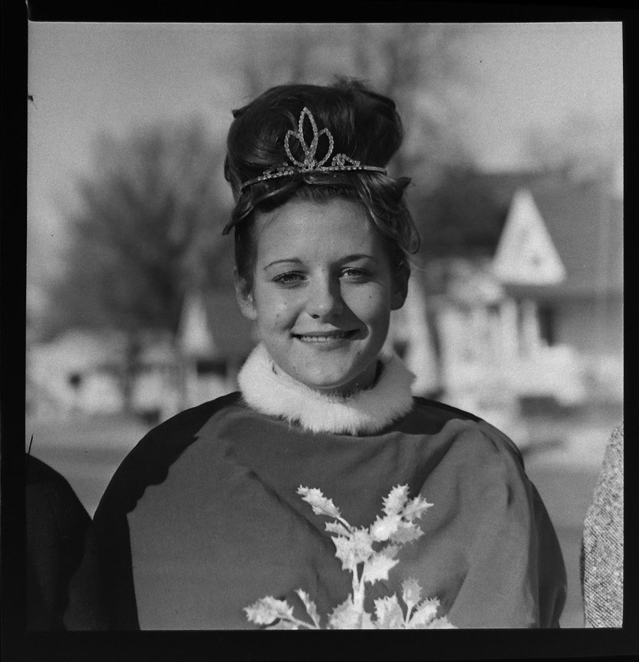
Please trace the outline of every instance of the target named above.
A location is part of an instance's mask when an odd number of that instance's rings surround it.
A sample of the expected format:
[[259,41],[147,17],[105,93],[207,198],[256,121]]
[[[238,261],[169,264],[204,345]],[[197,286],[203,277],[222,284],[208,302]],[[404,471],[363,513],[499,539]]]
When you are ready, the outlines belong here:
[[65,630],[70,605],[78,629],[104,624],[103,605],[87,564],[82,581],[72,581],[90,545],[90,517],[68,481],[35,457],[26,457],[27,627]]

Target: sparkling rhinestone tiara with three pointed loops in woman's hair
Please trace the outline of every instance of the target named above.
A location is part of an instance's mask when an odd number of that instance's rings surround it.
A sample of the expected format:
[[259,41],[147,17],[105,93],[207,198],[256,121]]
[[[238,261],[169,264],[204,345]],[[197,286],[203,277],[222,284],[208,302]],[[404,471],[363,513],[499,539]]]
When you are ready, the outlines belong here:
[[[307,145],[304,140],[303,126],[304,119],[307,119],[310,122],[311,128],[313,130],[313,139],[310,145]],[[319,139],[321,136],[325,135],[328,139],[328,149],[326,154],[322,159],[317,157],[317,147]],[[298,161],[292,154],[290,148],[290,139],[296,138],[300,143],[302,150],[304,152],[304,160]],[[278,167],[267,168],[260,177],[255,177],[254,179],[249,179],[245,181],[241,186],[240,190],[245,189],[251,184],[255,184],[258,181],[265,181],[267,179],[274,179],[276,177],[286,177],[289,174],[295,174],[296,172],[335,172],[338,170],[374,170],[375,172],[383,172],[386,174],[385,168],[378,168],[376,165],[362,165],[360,161],[351,159],[347,157],[346,154],[335,154],[331,159],[330,165],[324,165],[330,159],[333,152],[333,136],[332,133],[324,128],[321,131],[317,130],[317,124],[315,123],[315,118],[308,108],[303,108],[300,113],[300,119],[297,124],[297,131],[289,129],[286,132],[284,137],[284,149],[286,150],[286,155],[290,160],[290,164],[280,165]]]

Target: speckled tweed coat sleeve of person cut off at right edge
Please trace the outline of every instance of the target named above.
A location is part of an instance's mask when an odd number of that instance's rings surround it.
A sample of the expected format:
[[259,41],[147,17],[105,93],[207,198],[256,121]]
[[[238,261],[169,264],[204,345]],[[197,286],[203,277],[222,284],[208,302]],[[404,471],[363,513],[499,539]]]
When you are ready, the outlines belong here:
[[623,619],[623,423],[609,439],[586,513],[581,581],[587,628],[620,628]]

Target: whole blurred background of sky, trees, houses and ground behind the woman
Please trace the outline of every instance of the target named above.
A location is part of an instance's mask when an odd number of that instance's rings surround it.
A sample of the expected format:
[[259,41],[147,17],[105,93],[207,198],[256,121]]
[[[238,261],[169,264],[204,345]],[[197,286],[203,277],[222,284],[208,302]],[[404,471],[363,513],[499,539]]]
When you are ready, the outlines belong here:
[[416,394],[522,450],[569,574],[622,419],[620,23],[30,23],[26,448],[92,514],[125,454],[236,389],[231,110],[269,86],[396,100],[423,237],[388,343]]

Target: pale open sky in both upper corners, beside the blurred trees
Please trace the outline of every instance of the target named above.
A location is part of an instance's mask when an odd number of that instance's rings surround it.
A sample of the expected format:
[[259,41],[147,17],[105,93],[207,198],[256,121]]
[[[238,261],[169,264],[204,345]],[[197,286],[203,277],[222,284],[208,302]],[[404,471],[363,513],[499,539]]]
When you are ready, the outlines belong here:
[[[575,114],[622,114],[621,23],[478,23],[462,64],[473,81],[458,135],[487,170],[523,163],[531,126]],[[276,30],[277,26],[258,26]],[[28,281],[59,265],[75,180],[97,167],[99,132],[199,117],[222,138],[244,88],[233,59],[245,48],[230,23],[30,23]],[[34,294],[35,296],[35,294]]]

